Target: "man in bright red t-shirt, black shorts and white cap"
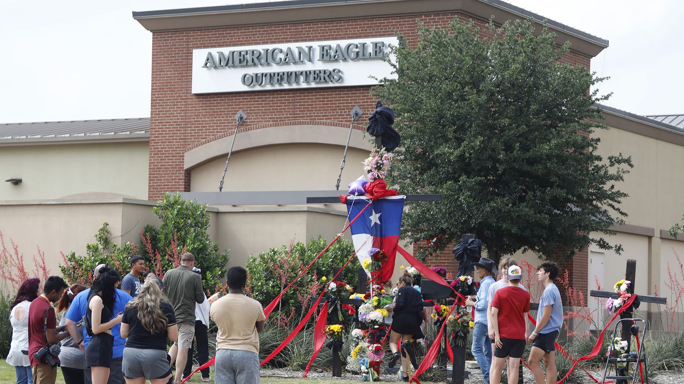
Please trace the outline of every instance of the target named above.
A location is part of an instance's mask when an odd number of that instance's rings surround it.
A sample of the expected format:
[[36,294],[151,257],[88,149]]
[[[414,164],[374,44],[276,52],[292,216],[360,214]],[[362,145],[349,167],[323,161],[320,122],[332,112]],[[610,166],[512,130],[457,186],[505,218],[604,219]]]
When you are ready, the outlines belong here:
[[525,351],[529,293],[518,287],[523,269],[508,267],[508,286],[497,290],[492,300],[492,327],[495,334],[494,358],[490,369],[490,384],[501,383],[501,370],[508,358],[509,384],[518,384],[518,363]]

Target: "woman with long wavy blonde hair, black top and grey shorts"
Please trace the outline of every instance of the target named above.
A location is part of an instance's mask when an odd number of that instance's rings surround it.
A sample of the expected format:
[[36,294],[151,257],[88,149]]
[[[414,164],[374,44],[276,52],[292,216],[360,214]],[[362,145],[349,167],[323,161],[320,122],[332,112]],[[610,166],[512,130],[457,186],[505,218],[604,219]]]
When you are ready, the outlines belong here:
[[174,309],[161,292],[157,279],[142,284],[129,301],[121,320],[121,337],[128,338],[121,369],[127,384],[166,384],[171,368],[166,340],[178,340]]

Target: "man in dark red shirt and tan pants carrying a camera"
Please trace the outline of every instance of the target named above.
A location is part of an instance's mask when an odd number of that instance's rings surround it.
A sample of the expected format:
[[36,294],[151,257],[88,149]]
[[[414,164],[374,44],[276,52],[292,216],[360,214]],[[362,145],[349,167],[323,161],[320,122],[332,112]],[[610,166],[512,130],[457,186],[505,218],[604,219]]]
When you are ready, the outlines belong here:
[[[45,359],[39,360],[35,355],[48,343],[56,344],[69,334],[65,332],[64,326],[60,326],[62,333],[56,333],[55,308],[51,305],[60,299],[66,288],[68,286],[62,277],[50,276],[45,282],[43,293],[36,300],[31,301],[29,307],[29,361],[31,362],[34,384],[54,384],[57,380],[57,367],[51,367]],[[59,361],[57,356],[54,358]]]

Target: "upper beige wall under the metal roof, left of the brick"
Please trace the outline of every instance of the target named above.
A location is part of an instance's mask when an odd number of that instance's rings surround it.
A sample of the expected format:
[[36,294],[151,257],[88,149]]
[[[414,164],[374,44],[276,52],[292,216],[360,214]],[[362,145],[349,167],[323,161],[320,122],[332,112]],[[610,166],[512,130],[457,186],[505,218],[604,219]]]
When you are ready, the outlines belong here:
[[57,199],[77,193],[147,198],[148,142],[0,147],[0,200]]

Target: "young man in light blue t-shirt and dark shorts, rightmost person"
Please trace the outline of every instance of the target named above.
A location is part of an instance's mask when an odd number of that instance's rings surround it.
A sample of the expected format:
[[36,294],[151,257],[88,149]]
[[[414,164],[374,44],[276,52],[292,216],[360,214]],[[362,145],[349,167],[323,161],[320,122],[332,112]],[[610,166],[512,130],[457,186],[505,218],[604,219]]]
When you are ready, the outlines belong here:
[[[529,351],[529,369],[534,374],[536,384],[554,384],[557,379],[555,366],[555,340],[563,325],[563,303],[560,299],[560,291],[553,284],[553,279],[558,276],[558,266],[555,262],[542,262],[537,272],[537,279],[544,285],[542,298],[539,300],[537,310],[537,326],[527,338],[532,343]],[[544,379],[544,371],[539,361],[544,358],[544,366],[547,368],[547,379]]]

